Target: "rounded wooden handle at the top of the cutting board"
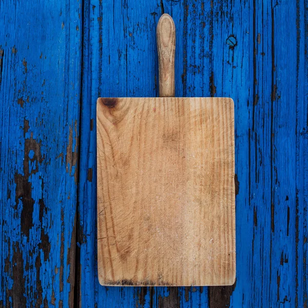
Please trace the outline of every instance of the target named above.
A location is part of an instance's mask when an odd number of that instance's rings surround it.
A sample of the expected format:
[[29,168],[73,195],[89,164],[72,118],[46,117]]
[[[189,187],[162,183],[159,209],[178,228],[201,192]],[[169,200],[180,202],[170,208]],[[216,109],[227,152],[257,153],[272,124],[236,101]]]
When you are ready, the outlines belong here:
[[157,24],[159,96],[175,97],[176,27],[172,17],[163,14]]

